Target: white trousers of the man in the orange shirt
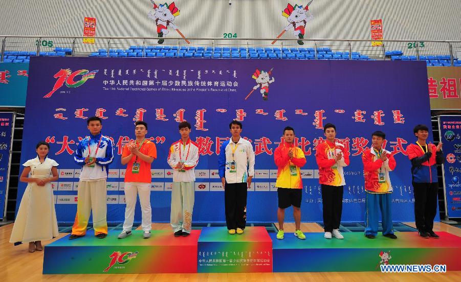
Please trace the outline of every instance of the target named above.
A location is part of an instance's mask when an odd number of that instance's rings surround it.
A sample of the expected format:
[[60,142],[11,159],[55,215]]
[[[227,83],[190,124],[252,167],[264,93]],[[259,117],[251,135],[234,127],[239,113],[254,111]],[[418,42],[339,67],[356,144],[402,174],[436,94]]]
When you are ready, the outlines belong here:
[[125,222],[124,231],[131,231],[135,218],[136,198],[139,194],[142,213],[142,230],[150,231],[152,223],[152,209],[150,207],[150,183],[125,182]]

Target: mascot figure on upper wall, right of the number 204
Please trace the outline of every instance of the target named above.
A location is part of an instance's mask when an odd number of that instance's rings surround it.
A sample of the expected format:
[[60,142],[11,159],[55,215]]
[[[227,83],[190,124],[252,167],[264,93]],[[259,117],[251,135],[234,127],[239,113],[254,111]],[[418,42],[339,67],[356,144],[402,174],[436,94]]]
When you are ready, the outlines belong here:
[[[287,8],[282,11],[282,15],[287,18],[289,23],[277,36],[277,39],[291,28],[293,28],[293,34],[295,36],[298,36],[299,39],[304,38],[306,23],[314,18],[314,15],[312,15],[311,11],[309,11],[309,6],[312,1],[314,0],[311,0],[311,2],[309,2],[305,7],[298,5],[293,7],[290,3],[288,3]],[[272,44],[274,44],[277,39],[272,41]],[[304,42],[302,40],[298,40],[298,44],[302,45]]]

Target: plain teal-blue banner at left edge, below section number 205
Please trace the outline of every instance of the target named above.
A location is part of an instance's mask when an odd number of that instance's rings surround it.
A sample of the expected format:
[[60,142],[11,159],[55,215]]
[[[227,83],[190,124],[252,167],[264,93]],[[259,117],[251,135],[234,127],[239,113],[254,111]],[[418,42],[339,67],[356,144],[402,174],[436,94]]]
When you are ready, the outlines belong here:
[[0,63],[0,106],[26,105],[29,63]]

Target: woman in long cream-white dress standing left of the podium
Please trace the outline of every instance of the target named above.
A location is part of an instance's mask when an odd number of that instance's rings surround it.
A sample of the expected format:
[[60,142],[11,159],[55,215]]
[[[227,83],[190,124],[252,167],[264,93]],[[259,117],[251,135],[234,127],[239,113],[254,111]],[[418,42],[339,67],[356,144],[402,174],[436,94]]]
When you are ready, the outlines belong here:
[[[24,163],[19,178],[28,182],[11,232],[10,243],[29,243],[29,252],[41,251],[41,240],[57,237],[58,224],[54,209],[51,181],[58,180],[58,163],[47,157],[50,145],[39,142],[37,157]],[[30,173],[30,175],[29,175]],[[29,175],[29,176],[28,176]]]

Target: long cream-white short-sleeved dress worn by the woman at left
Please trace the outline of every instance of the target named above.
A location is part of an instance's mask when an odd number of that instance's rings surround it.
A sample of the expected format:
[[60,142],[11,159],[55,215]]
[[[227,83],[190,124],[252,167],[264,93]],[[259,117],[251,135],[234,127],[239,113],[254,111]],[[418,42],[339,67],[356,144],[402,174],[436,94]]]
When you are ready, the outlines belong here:
[[[51,168],[57,167],[58,163],[50,158],[40,163],[36,157],[26,161],[23,166],[30,167],[31,178],[48,178],[52,176]],[[51,183],[45,186],[28,183],[19,205],[10,243],[50,240],[58,234]]]

